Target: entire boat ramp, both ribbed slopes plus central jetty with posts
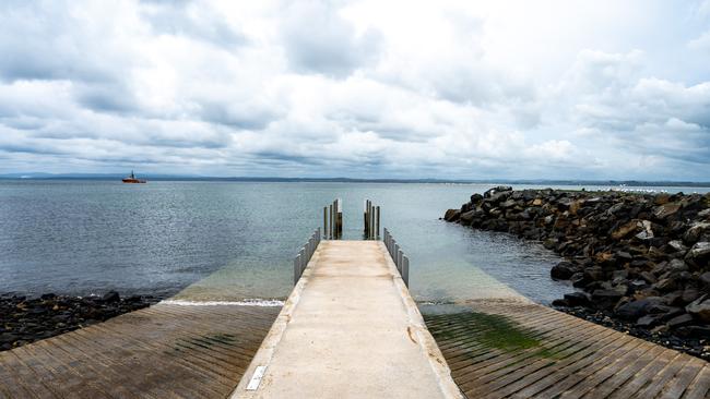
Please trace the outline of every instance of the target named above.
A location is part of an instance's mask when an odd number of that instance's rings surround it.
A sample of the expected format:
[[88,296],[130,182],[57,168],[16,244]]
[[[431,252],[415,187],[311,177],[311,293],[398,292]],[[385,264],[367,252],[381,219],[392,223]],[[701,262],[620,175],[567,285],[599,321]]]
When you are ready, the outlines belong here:
[[0,352],[0,398],[710,398],[708,362],[522,298],[423,318],[379,211],[365,241],[334,214],[281,309],[168,301]]

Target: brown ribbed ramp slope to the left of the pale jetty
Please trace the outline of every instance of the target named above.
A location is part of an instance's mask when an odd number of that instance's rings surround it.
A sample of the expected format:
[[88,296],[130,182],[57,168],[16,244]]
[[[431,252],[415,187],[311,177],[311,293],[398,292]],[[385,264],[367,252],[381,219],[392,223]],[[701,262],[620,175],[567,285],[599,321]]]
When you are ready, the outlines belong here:
[[279,311],[157,304],[0,352],[0,398],[224,398]]

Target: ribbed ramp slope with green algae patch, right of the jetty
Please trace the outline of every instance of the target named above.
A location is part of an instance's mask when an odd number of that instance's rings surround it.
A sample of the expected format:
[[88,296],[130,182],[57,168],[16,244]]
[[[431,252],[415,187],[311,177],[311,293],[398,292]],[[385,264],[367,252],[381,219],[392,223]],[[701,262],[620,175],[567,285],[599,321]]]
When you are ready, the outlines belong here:
[[427,315],[469,398],[710,398],[710,364],[536,304]]

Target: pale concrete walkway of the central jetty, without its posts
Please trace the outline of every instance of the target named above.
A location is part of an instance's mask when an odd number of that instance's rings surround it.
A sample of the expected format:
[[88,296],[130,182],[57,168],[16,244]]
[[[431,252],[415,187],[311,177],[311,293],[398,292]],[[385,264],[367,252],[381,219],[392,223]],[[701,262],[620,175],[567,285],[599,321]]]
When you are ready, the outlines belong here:
[[380,241],[323,241],[233,398],[460,398]]

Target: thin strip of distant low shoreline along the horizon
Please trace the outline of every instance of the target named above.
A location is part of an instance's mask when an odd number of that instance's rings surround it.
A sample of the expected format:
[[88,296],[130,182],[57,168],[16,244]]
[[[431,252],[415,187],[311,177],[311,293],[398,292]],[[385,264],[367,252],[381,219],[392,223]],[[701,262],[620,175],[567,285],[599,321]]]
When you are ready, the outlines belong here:
[[[92,180],[114,181],[123,178],[121,174],[33,174],[12,173],[0,174],[0,180],[10,181],[57,181],[57,180]],[[264,182],[264,183],[412,183],[412,184],[530,184],[530,185],[610,185],[610,186],[687,186],[710,188],[710,182],[690,181],[640,181],[640,180],[465,180],[465,179],[352,179],[352,178],[273,178],[273,177],[190,177],[143,174],[141,178],[153,181],[216,181],[216,182]]]

